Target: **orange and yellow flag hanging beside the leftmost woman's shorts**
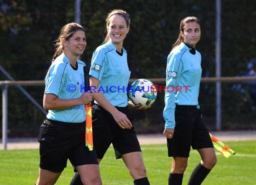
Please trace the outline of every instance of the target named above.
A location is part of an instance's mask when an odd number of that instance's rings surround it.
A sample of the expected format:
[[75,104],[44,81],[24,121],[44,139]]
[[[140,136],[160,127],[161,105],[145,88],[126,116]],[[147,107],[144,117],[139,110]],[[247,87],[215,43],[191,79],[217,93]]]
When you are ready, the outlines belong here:
[[85,105],[86,120],[85,120],[85,144],[89,150],[93,150],[93,122],[92,122],[92,106],[91,102]]

